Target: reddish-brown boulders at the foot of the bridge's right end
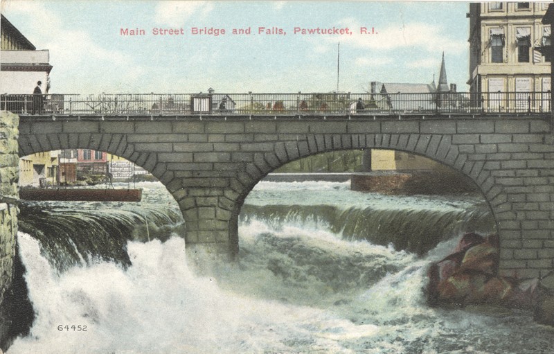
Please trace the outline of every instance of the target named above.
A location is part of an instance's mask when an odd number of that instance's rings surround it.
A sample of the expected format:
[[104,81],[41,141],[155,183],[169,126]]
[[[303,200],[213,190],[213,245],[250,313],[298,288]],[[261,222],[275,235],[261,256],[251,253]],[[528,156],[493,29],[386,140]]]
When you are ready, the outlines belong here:
[[499,276],[499,251],[497,234],[465,234],[452,254],[429,267],[427,302],[528,309],[535,321],[554,326],[554,273],[542,279]]

